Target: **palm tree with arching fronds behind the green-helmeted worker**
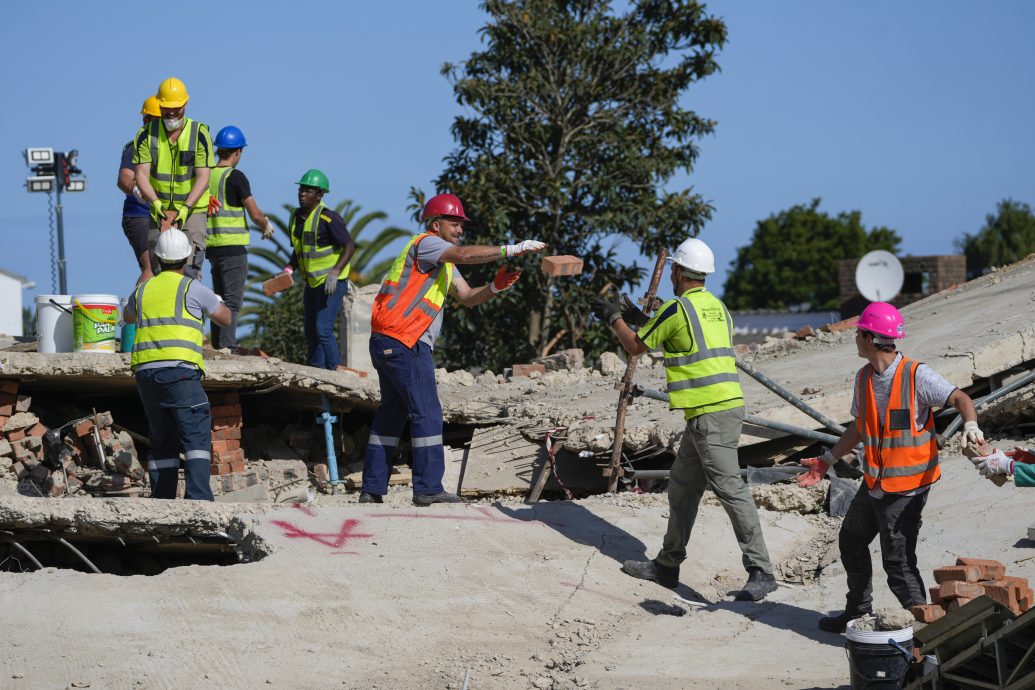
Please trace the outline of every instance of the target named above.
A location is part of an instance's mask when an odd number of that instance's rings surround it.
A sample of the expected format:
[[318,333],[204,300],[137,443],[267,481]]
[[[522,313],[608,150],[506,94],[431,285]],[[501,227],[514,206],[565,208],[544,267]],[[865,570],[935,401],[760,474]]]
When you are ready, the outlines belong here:
[[[289,362],[304,364],[307,357],[302,323],[302,287],[296,284],[292,290],[272,297],[267,297],[262,292],[263,281],[279,273],[291,261],[291,240],[285,218],[290,218],[295,208],[291,204],[285,204],[287,215],[284,218],[273,213],[267,214],[278,231],[271,239],[273,248],[260,244],[248,246],[248,282],[244,292],[240,326],[250,328],[252,332],[241,338],[241,343],[260,348]],[[349,234],[356,243],[356,252],[350,265],[350,279],[358,286],[381,280],[394,256],[379,257],[393,241],[409,237],[411,233],[387,226],[381,228],[374,237],[364,238],[362,235],[366,228],[387,219],[384,211],[362,213],[361,207],[351,200],[341,202],[334,210],[345,220]]]

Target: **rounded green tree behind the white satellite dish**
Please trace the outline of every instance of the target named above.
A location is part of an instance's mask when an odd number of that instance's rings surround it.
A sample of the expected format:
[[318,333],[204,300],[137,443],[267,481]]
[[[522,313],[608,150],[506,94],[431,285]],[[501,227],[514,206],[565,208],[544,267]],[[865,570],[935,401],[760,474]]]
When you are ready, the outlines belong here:
[[862,213],[830,216],[820,200],[799,204],[760,220],[751,241],[737,249],[726,279],[723,301],[731,309],[782,309],[840,304],[837,262],[873,249],[894,253],[901,238],[888,228],[867,231]]

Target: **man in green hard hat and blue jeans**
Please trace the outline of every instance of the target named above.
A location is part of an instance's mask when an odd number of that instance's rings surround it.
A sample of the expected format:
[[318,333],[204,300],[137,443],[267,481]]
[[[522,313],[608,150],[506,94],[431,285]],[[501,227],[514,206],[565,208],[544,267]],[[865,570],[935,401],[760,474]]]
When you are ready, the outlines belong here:
[[302,310],[308,365],[336,369],[342,355],[334,323],[349,292],[349,262],[356,243],[345,219],[323,205],[323,196],[330,191],[326,175],[314,168],[296,184],[298,209],[288,220],[293,247],[288,268],[300,269],[305,279]]

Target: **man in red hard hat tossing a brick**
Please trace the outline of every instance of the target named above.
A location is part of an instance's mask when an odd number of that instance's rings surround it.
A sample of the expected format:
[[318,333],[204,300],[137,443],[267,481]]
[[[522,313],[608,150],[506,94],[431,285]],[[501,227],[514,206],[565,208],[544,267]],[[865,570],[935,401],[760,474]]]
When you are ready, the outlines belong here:
[[487,264],[545,244],[525,240],[497,246],[457,246],[464,234],[460,199],[438,194],[420,216],[425,232],[414,236],[400,252],[381,283],[371,318],[371,361],[381,383],[381,404],[374,414],[363,456],[360,503],[383,503],[388,472],[398,438],[411,420],[413,503],[459,503],[460,497],[442,486],[445,460],[442,448],[442,406],[435,386],[432,349],[442,329],[446,294],[464,306],[487,302],[518,281],[521,273],[501,266],[493,282],[471,288],[455,264]]

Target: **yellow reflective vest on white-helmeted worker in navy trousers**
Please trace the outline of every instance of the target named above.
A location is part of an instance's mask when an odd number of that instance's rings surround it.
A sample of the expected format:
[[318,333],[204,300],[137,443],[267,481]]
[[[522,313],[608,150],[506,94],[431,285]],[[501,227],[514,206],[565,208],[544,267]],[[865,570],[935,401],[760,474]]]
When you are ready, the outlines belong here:
[[205,370],[204,326],[186,308],[190,278],[164,271],[137,288],[137,337],[131,364],[182,361]]

